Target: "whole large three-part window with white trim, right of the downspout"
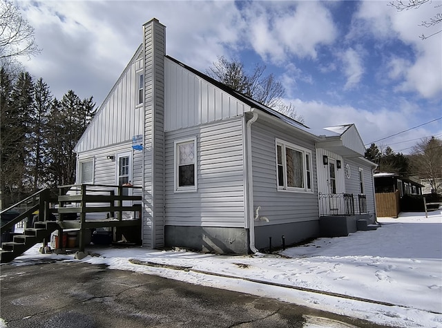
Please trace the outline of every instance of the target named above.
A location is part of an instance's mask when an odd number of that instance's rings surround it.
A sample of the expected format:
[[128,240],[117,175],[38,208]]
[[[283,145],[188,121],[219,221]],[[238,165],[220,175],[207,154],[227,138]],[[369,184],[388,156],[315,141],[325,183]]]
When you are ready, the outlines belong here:
[[311,151],[276,140],[278,190],[312,192]]

